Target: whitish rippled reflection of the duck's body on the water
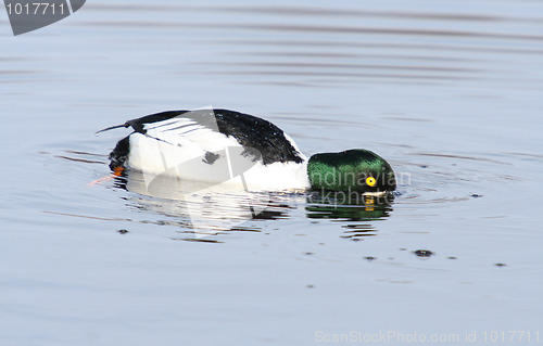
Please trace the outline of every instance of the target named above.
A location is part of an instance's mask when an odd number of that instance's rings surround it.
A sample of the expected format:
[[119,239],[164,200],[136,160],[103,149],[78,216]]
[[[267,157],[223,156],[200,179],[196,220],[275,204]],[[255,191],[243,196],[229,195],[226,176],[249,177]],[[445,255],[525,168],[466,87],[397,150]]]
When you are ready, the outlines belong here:
[[[231,183],[209,185],[165,175],[149,182],[142,172],[128,170],[115,179],[115,187],[137,193],[127,197],[131,206],[166,216],[174,223],[191,229],[197,238],[235,230],[252,219],[282,218],[287,213],[277,207],[279,202],[274,195],[243,191]],[[249,228],[258,231],[253,226]]]

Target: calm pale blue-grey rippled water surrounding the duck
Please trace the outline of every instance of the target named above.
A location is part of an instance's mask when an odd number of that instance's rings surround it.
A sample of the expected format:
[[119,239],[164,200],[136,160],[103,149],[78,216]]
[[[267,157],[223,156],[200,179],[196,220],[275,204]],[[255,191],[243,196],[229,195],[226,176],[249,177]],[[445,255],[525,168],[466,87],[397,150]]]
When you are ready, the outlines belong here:
[[[0,344],[542,342],[541,2],[92,1],[17,37],[1,13]],[[137,177],[89,184],[128,133],[97,130],[207,105],[375,151],[397,195],[195,198],[197,236]]]

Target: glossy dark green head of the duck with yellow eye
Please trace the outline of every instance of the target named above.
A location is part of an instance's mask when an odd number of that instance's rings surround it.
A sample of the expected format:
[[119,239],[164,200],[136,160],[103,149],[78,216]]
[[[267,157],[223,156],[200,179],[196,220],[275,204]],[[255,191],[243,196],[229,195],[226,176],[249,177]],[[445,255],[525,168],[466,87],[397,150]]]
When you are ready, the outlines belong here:
[[315,154],[307,164],[312,189],[333,191],[394,191],[394,171],[381,156],[363,149]]

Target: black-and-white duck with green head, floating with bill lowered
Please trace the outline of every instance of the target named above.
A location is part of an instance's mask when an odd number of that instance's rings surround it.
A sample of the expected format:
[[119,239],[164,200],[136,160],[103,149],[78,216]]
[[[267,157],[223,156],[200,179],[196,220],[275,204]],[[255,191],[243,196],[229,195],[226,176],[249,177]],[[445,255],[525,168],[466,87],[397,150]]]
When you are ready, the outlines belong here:
[[[374,152],[354,149],[307,159],[274,124],[228,110],[168,111],[105,130],[131,127],[110,154],[110,168],[187,180],[240,177],[250,190],[332,190],[381,194],[396,188],[394,171]],[[245,189],[247,190],[247,189]]]

